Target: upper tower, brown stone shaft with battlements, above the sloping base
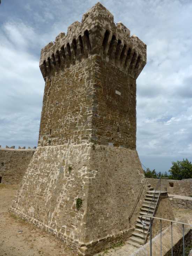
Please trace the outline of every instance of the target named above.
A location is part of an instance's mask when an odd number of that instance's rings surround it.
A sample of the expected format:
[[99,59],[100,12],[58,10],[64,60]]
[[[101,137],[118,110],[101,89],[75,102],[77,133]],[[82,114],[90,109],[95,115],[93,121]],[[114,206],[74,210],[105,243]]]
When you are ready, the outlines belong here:
[[136,78],[146,44],[100,3],[41,51],[39,146],[85,141],[136,148]]

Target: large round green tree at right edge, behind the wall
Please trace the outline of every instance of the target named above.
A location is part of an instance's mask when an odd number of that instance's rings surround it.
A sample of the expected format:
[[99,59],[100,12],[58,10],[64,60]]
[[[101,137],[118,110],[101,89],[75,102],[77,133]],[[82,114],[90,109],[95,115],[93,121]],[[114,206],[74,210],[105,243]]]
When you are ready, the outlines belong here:
[[173,180],[192,178],[192,163],[187,158],[183,161],[172,162],[169,172]]

